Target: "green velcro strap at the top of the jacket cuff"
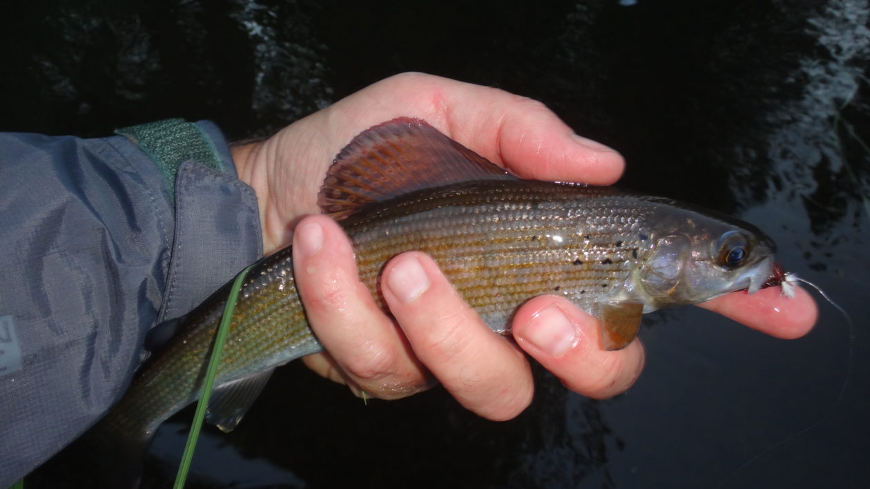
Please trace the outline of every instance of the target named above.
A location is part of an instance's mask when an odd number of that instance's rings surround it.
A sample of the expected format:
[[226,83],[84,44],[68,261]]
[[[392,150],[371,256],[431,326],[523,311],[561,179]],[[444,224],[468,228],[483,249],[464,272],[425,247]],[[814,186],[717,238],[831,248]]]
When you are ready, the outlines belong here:
[[157,165],[171,202],[175,202],[175,177],[178,167],[185,161],[192,159],[212,170],[226,172],[224,161],[211,139],[197,124],[184,119],[133,125],[118,129],[115,133],[130,139]]

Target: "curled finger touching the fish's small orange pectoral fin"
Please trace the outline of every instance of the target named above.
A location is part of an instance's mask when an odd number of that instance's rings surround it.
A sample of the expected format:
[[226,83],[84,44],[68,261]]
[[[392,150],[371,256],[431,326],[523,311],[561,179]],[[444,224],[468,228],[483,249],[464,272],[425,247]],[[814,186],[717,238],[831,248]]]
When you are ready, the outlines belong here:
[[603,350],[598,319],[566,298],[540,296],[526,302],[514,317],[513,337],[567,388],[595,399],[625,392],[644,365],[638,340],[622,350]]

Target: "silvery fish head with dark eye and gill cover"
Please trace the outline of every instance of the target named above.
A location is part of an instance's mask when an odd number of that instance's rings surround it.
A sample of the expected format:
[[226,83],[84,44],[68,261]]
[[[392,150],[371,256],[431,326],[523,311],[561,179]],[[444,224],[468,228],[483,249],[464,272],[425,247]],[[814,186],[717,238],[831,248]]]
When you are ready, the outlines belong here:
[[774,274],[776,246],[752,224],[685,208],[671,208],[657,221],[634,274],[649,309],[754,293]]

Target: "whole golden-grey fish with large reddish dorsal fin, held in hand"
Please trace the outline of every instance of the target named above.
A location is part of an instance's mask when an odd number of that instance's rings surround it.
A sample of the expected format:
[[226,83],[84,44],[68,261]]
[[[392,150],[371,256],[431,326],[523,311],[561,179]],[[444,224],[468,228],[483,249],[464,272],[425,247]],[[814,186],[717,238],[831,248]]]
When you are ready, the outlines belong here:
[[[338,153],[318,194],[351,238],[359,278],[385,311],[378,278],[402,251],[428,253],[493,332],[556,294],[599,318],[602,346],[623,348],[644,313],[784,277],[775,245],[735,218],[612,186],[526,180],[417,118],[371,127]],[[200,397],[231,284],[171,322],[176,333],[91,430],[110,465],[136,472],[165,419]],[[239,289],[207,421],[238,425],[271,372],[323,352],[293,278],[292,248],[262,258]],[[127,448],[123,448],[126,446]]]

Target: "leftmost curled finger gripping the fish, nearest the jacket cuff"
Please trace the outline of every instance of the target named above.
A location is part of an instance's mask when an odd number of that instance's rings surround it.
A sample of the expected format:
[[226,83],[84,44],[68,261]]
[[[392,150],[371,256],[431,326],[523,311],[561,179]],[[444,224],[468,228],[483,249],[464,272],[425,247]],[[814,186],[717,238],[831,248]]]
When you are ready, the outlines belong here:
[[[429,385],[401,332],[359,282],[351,244],[330,218],[309,216],[293,237],[293,268],[311,329],[351,385],[398,399]],[[309,360],[335,378],[330,361]]]

